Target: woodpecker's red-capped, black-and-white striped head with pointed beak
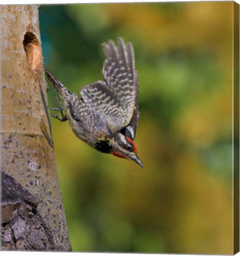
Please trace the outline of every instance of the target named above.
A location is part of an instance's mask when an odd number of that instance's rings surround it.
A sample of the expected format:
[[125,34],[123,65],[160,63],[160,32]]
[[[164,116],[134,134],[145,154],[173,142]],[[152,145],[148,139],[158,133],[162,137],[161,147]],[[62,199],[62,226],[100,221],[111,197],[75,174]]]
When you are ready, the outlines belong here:
[[116,133],[115,136],[113,136],[111,144],[112,150],[110,153],[112,155],[118,156],[119,158],[132,160],[142,168],[144,167],[137,155],[137,148],[129,137],[122,135],[122,133]]

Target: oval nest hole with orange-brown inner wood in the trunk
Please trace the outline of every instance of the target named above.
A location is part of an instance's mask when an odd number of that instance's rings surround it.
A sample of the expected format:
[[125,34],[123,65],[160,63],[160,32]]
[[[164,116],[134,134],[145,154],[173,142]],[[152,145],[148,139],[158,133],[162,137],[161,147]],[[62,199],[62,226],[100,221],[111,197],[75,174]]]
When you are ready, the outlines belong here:
[[34,33],[27,31],[24,35],[23,47],[27,56],[28,63],[33,70],[36,72],[41,64],[41,46]]

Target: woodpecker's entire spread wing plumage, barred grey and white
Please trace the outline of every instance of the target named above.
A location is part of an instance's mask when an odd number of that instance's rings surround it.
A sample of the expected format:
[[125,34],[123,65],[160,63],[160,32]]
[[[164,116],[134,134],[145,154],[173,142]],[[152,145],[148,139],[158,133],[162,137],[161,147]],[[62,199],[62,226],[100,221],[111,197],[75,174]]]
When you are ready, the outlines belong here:
[[138,75],[135,71],[132,45],[128,43],[126,47],[120,38],[118,48],[109,40],[103,44],[103,49],[106,54],[103,63],[105,82],[96,81],[80,91],[85,105],[82,114],[88,113],[82,120],[105,132],[109,130],[112,135],[121,131],[134,140],[139,113]]

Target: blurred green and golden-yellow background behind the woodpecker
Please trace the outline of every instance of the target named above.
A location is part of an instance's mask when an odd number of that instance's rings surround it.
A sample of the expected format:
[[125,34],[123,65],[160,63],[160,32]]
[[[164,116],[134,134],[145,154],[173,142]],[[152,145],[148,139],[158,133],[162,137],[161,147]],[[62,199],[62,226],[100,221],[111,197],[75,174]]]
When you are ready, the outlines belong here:
[[44,63],[70,91],[102,79],[101,44],[119,36],[134,46],[140,80],[144,169],[51,119],[73,251],[232,254],[232,8],[40,7]]

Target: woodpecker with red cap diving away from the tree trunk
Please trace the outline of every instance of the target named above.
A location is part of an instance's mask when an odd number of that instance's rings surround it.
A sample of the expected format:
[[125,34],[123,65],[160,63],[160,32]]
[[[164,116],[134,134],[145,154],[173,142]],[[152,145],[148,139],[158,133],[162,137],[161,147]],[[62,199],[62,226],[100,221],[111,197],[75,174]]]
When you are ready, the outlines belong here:
[[134,49],[131,43],[125,45],[121,37],[118,46],[112,40],[102,46],[106,56],[102,69],[104,81],[83,87],[82,97],[70,92],[44,67],[63,101],[62,105],[56,97],[58,108],[50,108],[60,111],[61,118],[52,116],[60,121],[69,120],[74,134],[92,148],[144,167],[134,143],[140,117]]

